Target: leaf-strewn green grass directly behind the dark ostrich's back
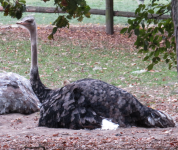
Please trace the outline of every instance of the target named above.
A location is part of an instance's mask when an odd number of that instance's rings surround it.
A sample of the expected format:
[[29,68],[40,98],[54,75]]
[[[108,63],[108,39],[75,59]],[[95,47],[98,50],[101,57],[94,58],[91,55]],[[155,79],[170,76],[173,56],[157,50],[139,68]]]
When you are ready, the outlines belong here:
[[[3,41],[4,38],[6,40]],[[11,38],[1,36],[0,69],[29,78],[30,41],[28,38],[25,40]],[[57,46],[59,43],[60,46]],[[95,49],[91,44],[88,42],[87,46],[82,48],[80,44],[74,45],[72,40],[63,38],[52,43],[39,41],[39,68],[44,83],[50,87],[57,87],[62,86],[64,80],[75,81],[89,77],[116,86],[128,87],[164,86],[170,81],[177,80],[176,70],[168,70],[165,63],[157,65],[154,72],[132,73],[145,69],[150,62],[143,62],[140,58],[142,55],[139,56],[122,46],[118,49],[106,49],[104,46]]]

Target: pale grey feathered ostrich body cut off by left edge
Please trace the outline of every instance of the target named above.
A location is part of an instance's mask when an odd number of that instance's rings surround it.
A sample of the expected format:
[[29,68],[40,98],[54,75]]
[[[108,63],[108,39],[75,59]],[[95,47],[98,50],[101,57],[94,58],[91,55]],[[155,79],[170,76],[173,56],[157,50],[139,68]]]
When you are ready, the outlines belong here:
[[39,111],[38,103],[29,80],[12,72],[0,73],[0,115],[31,114]]

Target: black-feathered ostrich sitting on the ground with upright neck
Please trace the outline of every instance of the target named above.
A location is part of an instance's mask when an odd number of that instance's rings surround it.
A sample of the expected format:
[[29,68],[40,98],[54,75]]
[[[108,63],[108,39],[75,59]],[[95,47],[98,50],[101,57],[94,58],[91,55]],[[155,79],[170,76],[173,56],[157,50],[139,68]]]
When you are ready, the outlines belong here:
[[30,82],[41,102],[39,126],[95,129],[106,118],[120,127],[175,126],[169,115],[144,106],[132,94],[100,80],[86,78],[56,90],[47,88],[38,72],[35,19],[27,16],[17,24],[31,37]]

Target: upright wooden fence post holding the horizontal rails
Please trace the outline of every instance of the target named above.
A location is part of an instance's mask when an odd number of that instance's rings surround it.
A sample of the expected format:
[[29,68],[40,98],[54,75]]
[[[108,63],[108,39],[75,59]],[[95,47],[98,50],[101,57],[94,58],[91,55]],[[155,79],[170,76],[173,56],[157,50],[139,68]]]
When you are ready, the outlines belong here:
[[106,0],[106,33],[112,35],[113,30],[113,0]]

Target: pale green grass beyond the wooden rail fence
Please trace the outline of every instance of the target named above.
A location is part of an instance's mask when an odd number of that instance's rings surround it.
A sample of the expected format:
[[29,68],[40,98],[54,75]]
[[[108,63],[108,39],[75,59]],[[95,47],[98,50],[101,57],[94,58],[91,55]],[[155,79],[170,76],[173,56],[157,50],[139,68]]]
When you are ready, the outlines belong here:
[[[42,2],[40,0],[26,0],[27,5],[30,6],[42,6],[42,7],[53,7],[53,1],[49,2]],[[86,0],[87,4],[93,9],[105,9],[105,1],[104,0]],[[149,3],[150,0],[145,0],[145,3]],[[167,0],[160,0],[159,1],[166,3]],[[134,12],[135,9],[138,7],[136,0],[114,0],[114,10],[118,11],[131,11]],[[38,24],[47,25],[52,23],[58,16],[58,14],[44,14],[44,13],[24,13],[26,15],[34,15]],[[128,18],[126,17],[114,17],[114,24],[127,24]],[[5,24],[15,24],[17,20],[12,19],[11,17],[4,17],[3,13],[0,12],[0,25]],[[91,18],[84,18],[82,22],[78,22],[76,19],[72,19],[70,21],[71,24],[105,24],[105,16],[101,15],[91,15]]]

